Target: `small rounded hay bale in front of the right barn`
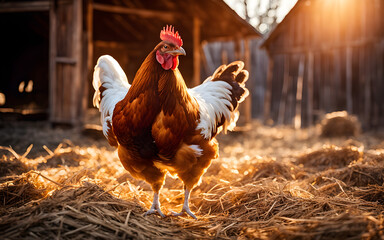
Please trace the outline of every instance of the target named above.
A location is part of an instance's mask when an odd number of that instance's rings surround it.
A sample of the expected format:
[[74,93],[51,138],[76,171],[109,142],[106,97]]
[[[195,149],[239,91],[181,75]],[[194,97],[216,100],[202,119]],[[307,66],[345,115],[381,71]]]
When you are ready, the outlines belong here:
[[361,129],[357,117],[349,115],[346,111],[326,114],[320,126],[322,137],[357,136]]

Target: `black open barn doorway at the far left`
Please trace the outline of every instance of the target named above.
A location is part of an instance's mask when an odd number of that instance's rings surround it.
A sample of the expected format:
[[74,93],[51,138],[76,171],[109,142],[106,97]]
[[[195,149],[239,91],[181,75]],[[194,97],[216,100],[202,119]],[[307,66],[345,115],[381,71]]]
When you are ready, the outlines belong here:
[[0,29],[0,119],[47,119],[48,11],[1,13]]

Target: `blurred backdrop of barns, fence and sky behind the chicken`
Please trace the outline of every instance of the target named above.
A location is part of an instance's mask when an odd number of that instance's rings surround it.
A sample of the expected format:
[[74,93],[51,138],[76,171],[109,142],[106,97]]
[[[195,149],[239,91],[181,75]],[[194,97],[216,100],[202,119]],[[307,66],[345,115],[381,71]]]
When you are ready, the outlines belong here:
[[250,97],[240,125],[295,128],[345,110],[384,126],[381,0],[0,1],[0,119],[82,126],[93,67],[112,55],[129,81],[172,24],[187,52],[187,85],[243,60]]

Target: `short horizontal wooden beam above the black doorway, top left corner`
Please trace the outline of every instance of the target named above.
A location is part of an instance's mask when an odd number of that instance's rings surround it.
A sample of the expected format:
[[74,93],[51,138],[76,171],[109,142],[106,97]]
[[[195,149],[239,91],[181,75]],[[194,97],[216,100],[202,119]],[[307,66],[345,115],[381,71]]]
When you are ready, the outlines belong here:
[[49,11],[49,1],[25,1],[25,2],[3,2],[0,3],[0,12],[37,12]]

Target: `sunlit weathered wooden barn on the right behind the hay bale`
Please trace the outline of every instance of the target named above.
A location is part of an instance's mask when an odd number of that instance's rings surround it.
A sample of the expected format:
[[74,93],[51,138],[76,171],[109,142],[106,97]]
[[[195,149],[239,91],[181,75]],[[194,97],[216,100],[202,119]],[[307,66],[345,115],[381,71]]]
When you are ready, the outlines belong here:
[[299,0],[271,32],[265,119],[308,126],[347,110],[384,126],[384,1]]

